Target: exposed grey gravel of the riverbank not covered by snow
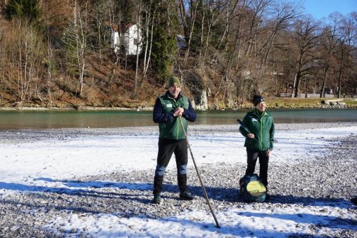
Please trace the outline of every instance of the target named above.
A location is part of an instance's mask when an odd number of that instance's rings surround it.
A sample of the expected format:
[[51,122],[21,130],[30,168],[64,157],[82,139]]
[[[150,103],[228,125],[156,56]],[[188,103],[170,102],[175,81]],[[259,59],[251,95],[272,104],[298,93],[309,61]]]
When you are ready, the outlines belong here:
[[[308,125],[308,126],[307,126]],[[304,129],[316,125],[307,124]],[[278,126],[280,130],[284,125]],[[210,128],[207,127],[207,134]],[[217,127],[218,128],[218,127]],[[230,126],[221,127],[220,132],[231,130]],[[137,133],[153,129],[137,129]],[[156,130],[156,127],[155,127]],[[284,129],[285,130],[285,129]],[[119,132],[118,132],[119,131]],[[124,133],[118,130],[115,133]],[[51,137],[73,137],[71,130],[51,134]],[[127,132],[127,130],[126,130]],[[205,134],[206,127],[195,127],[193,134]],[[40,132],[24,133],[22,139],[31,140],[38,137]],[[97,130],[83,132],[86,136],[106,135],[114,132]],[[88,133],[88,134],[86,134]],[[97,134],[98,133],[98,134]],[[0,134],[4,134],[1,132]],[[5,133],[6,134],[6,133]],[[41,133],[40,133],[41,134]],[[79,134],[83,136],[83,134]],[[46,135],[47,137],[47,135]],[[10,141],[13,137],[8,135]],[[245,204],[238,201],[239,179],[245,173],[245,164],[218,163],[206,164],[199,167],[205,183],[208,197],[215,211],[226,211],[231,208],[249,208],[254,210],[270,209],[277,211],[286,207],[294,208],[312,206],[324,202],[334,206],[335,202],[347,203],[357,193],[357,136],[341,138],[338,144],[323,148],[325,155],[321,158],[304,160],[298,163],[278,164],[270,162],[268,175],[270,202],[261,204]],[[0,237],[87,237],[86,230],[66,230],[64,224],[55,223],[56,218],[68,218],[71,214],[86,217],[89,215],[115,214],[118,217],[130,218],[133,216],[147,218],[165,218],[180,214],[182,211],[209,209],[205,203],[202,189],[194,166],[189,165],[188,185],[193,201],[179,200],[175,169],[169,169],[164,177],[163,201],[160,205],[151,204],[152,182],[154,171],[142,170],[136,172],[113,172],[97,176],[71,178],[68,184],[92,184],[89,182],[101,181],[101,186],[88,186],[81,189],[63,189],[52,192],[19,192],[6,197],[0,197]],[[321,212],[323,207],[321,207]],[[356,209],[349,209],[356,214]],[[303,215],[301,215],[303,216]],[[335,219],[335,223],[339,218]],[[356,224],[356,221],[340,221]],[[356,224],[357,225],[357,224]],[[312,225],[312,235],[318,235],[318,225]],[[356,230],[335,229],[331,236],[356,237]]]

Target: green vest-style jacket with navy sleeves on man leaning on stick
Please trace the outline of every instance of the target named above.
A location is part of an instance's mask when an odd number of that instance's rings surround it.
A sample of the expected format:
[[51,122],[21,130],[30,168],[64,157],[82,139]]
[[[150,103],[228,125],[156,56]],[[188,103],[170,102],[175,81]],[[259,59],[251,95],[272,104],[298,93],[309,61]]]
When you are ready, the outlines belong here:
[[187,121],[194,122],[196,120],[196,112],[189,99],[182,96],[181,93],[177,99],[174,99],[167,91],[166,94],[156,99],[152,115],[154,123],[159,123],[159,139],[185,139],[180,118],[173,116],[173,110],[177,107],[184,109],[182,124],[185,132],[187,132]]

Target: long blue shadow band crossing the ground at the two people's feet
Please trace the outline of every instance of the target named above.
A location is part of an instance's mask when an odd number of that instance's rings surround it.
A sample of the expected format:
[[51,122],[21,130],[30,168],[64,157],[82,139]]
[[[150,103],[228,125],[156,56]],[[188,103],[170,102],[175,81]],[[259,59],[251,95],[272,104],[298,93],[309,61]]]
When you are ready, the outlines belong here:
[[[143,191],[143,195],[153,190],[151,183],[125,183],[125,182],[105,182],[105,181],[71,181],[71,180],[55,180],[50,178],[38,178],[35,181],[46,181],[48,183],[57,183],[61,187],[53,186],[28,186],[20,183],[5,183],[0,182],[0,189],[17,190],[22,192],[45,192],[58,193],[77,196],[92,196],[103,198],[122,198],[128,200],[138,200],[138,202],[149,203],[151,197],[147,200],[135,198],[140,197],[138,194],[123,193],[122,190],[137,190]],[[64,187],[62,187],[64,186]],[[100,188],[113,188],[111,192],[101,191]],[[205,186],[207,195],[212,200],[221,202],[242,202],[240,200],[239,190],[236,188],[215,188]],[[203,197],[201,186],[189,186],[189,190],[193,195]],[[171,195],[175,193],[175,195]],[[163,198],[178,199],[177,184],[163,184]],[[151,193],[150,193],[151,194]],[[328,199],[324,197],[298,197],[293,195],[270,195],[270,204],[303,204],[312,206],[329,206],[346,208],[351,206],[351,202],[343,199]]]

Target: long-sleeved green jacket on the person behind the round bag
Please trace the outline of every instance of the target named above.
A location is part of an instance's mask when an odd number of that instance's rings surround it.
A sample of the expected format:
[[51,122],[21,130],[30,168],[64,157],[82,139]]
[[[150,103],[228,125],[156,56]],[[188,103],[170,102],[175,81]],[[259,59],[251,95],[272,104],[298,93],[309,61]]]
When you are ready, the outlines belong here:
[[272,151],[274,143],[274,121],[269,113],[259,113],[257,109],[247,113],[243,123],[254,134],[254,139],[247,137],[247,132],[240,127],[240,133],[245,137],[245,147],[255,151]]

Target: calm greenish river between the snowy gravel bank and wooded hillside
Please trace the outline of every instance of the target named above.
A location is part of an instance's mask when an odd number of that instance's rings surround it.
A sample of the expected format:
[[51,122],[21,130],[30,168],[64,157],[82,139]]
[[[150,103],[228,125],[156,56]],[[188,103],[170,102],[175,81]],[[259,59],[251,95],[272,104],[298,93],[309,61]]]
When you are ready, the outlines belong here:
[[[272,109],[275,123],[357,122],[357,109]],[[198,111],[195,124],[235,124],[247,111]],[[152,126],[152,111],[0,111],[0,130]]]

